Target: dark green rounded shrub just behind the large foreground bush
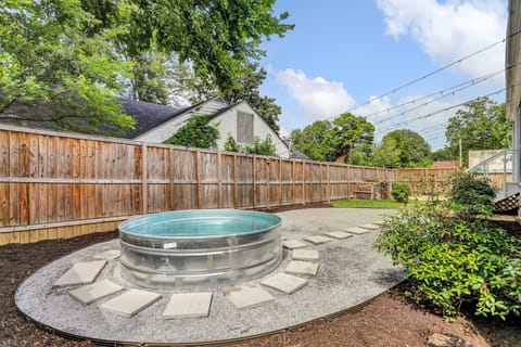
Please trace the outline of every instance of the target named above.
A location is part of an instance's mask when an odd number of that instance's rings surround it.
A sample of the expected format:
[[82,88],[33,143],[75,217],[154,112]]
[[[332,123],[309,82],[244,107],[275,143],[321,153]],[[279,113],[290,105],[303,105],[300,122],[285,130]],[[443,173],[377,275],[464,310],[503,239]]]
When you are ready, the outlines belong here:
[[478,179],[471,172],[458,172],[450,179],[450,198],[465,208],[466,214],[491,215],[492,201],[496,195],[486,179]]

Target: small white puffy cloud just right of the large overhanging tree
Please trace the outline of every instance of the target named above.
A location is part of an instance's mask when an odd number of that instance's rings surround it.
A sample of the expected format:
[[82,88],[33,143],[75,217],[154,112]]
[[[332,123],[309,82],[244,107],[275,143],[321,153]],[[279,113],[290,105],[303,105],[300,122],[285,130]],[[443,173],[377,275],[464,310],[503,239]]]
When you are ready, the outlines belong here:
[[309,78],[304,72],[293,68],[278,70],[276,76],[298,103],[308,121],[335,116],[355,105],[342,82],[328,81],[322,77]]

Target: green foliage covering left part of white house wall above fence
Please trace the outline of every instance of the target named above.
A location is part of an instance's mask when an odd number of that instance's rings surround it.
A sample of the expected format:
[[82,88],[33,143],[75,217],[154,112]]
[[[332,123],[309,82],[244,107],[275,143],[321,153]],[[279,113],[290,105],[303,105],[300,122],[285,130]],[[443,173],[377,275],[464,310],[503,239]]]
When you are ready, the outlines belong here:
[[186,145],[198,149],[217,147],[219,129],[211,124],[207,116],[193,116],[171,138],[165,141],[168,144]]

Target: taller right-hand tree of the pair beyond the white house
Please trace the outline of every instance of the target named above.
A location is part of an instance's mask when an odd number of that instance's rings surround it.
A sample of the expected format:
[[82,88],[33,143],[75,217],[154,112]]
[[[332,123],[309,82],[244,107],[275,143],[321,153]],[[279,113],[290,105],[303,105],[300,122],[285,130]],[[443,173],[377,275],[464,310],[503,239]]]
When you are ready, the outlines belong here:
[[374,126],[351,113],[344,113],[332,121],[332,128],[326,133],[325,141],[334,149],[334,158],[345,156],[345,163],[352,164],[355,152],[371,155]]

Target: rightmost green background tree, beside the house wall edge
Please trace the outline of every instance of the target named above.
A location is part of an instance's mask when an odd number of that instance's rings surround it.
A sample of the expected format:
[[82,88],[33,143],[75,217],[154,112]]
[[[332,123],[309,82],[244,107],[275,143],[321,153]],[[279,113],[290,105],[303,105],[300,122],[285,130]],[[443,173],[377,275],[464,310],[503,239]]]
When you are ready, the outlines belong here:
[[448,119],[445,137],[453,156],[459,153],[459,140],[463,152],[463,165],[468,165],[470,150],[498,150],[511,146],[511,125],[506,120],[505,103],[497,104],[488,98],[480,98],[458,110]]

